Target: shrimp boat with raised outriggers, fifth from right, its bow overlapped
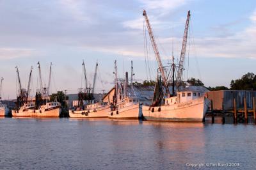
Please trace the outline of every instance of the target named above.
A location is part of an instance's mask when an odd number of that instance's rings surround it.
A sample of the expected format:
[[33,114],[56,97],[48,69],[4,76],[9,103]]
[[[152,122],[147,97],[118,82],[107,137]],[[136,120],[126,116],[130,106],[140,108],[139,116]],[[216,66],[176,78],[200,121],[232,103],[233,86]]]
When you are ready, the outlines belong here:
[[12,110],[12,116],[13,117],[29,117],[30,114],[28,110],[33,109],[35,107],[35,104],[32,101],[28,102],[33,67],[31,66],[31,70],[29,73],[27,90],[22,88],[20,83],[19,69],[17,66],[16,66],[16,69],[17,69],[16,72],[17,72],[17,77],[19,82],[19,97],[17,97],[16,108]]

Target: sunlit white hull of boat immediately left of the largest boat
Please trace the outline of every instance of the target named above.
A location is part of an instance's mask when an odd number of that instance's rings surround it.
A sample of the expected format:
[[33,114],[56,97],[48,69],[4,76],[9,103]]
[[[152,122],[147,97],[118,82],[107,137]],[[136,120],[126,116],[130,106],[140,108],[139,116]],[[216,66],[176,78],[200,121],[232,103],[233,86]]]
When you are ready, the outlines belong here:
[[139,119],[142,116],[140,104],[125,106],[117,111],[110,111],[108,118],[111,119]]

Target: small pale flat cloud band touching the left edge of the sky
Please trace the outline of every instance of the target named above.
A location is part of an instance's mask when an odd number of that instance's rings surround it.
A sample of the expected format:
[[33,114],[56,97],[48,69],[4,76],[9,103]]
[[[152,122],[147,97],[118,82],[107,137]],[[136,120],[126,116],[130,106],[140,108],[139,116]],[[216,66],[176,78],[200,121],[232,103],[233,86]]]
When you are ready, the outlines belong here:
[[0,48],[0,59],[27,58],[33,54],[33,49]]

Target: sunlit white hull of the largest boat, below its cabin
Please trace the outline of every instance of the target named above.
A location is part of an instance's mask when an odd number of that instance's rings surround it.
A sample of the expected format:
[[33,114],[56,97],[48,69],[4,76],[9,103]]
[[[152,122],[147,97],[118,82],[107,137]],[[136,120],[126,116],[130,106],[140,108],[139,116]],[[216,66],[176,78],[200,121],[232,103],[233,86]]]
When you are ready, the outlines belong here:
[[160,107],[143,105],[142,112],[145,120],[202,122],[209,104],[209,99],[201,97],[189,102]]

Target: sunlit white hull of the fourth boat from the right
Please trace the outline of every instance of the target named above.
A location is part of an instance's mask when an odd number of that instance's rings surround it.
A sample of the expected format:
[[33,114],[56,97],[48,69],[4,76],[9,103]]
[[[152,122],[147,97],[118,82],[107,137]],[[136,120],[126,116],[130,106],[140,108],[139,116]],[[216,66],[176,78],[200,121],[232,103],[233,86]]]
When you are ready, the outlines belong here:
[[44,110],[44,109],[29,109],[29,116],[30,117],[38,117],[38,118],[59,118],[61,109],[60,107],[56,107],[51,110]]

